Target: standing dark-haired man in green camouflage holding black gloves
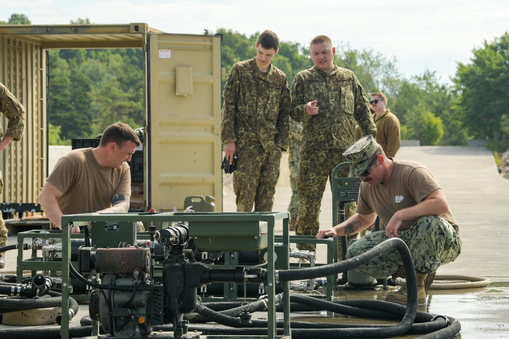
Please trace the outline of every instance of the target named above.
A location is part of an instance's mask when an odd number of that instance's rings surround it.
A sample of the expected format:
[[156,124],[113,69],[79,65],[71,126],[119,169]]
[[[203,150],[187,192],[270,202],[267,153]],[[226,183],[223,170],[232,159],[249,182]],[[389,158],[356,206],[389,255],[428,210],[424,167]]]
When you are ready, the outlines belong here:
[[238,212],[270,212],[279,179],[281,151],[287,149],[290,88],[285,73],[271,64],[279,38],[265,30],[254,44],[257,55],[233,65],[224,85],[221,141],[233,162]]

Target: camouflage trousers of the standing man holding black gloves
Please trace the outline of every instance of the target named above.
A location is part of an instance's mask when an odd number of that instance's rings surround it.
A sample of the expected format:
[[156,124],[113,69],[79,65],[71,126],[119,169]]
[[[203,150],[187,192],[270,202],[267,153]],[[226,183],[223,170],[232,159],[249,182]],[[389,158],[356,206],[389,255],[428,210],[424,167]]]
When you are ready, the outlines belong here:
[[271,212],[279,179],[281,151],[240,148],[233,172],[237,212]]

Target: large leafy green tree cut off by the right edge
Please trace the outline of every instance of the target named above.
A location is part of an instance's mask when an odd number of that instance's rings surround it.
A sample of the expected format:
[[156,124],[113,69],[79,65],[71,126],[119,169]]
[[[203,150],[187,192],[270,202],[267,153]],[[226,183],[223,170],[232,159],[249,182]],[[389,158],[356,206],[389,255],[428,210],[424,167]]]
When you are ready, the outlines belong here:
[[501,127],[509,106],[509,34],[472,52],[472,63],[460,63],[454,78],[461,93],[458,110],[470,135],[487,138],[495,150],[504,151],[509,146]]

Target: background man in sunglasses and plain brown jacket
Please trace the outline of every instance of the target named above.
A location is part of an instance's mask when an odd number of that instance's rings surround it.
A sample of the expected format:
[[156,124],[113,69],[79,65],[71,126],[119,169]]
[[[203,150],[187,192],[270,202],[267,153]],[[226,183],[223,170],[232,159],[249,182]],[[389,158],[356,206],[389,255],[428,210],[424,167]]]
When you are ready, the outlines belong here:
[[[401,146],[400,120],[388,108],[387,97],[382,92],[371,94],[371,111],[377,126],[377,143],[382,146],[387,158],[394,158]],[[359,127],[355,129],[355,140],[359,140],[362,133]]]

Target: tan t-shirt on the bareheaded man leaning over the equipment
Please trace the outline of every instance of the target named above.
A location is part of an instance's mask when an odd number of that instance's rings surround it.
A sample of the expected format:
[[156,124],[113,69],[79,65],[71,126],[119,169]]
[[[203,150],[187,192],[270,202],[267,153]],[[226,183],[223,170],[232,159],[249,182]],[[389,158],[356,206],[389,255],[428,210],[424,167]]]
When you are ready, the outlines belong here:
[[131,195],[129,165],[101,166],[92,148],[72,150],[56,163],[46,179],[64,194],[58,199],[64,214],[93,213],[111,207],[117,194]]

